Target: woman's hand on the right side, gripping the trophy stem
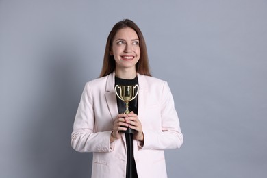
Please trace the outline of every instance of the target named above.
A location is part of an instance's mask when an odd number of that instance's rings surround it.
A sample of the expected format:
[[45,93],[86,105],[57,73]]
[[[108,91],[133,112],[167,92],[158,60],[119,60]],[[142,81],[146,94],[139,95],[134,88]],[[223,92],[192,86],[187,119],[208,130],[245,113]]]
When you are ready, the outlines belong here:
[[133,112],[127,114],[128,117],[125,117],[125,122],[129,124],[129,128],[136,130],[136,133],[133,134],[133,139],[144,142],[144,134],[142,131],[142,124],[138,119],[138,116]]

